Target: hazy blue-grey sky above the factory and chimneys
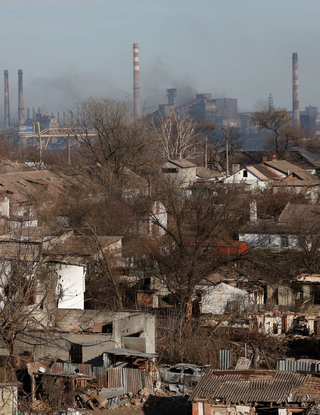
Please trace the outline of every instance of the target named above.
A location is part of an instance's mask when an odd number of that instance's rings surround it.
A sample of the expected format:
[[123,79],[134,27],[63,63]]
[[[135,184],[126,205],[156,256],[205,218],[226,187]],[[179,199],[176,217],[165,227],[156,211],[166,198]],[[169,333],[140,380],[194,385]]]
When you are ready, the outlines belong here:
[[252,111],[271,92],[275,106],[291,109],[292,52],[300,109],[320,107],[320,0],[0,0],[0,27],[12,116],[18,69],[25,108],[62,111],[90,95],[130,99],[134,42],[142,106],[152,110],[173,87],[177,103],[212,92]]

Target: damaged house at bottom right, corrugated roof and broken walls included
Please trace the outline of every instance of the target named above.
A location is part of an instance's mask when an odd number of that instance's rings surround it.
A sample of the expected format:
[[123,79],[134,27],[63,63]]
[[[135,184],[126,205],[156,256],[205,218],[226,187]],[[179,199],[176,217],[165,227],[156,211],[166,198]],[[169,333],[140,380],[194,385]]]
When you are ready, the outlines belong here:
[[318,408],[320,374],[208,369],[189,400],[192,415],[306,415]]

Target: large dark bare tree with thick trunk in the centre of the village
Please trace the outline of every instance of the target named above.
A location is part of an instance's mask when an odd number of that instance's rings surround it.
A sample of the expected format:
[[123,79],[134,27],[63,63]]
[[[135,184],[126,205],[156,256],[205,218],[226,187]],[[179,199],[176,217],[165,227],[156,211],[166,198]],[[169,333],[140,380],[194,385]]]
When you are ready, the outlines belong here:
[[[236,218],[232,202],[236,196],[206,197],[201,190],[193,190],[188,198],[176,191],[170,181],[162,182],[158,189],[154,197],[164,206],[168,221],[163,222],[149,211],[151,221],[163,236],[146,241],[148,253],[142,258],[143,266],[149,266],[156,277],[165,281],[184,308],[186,321],[191,322],[195,286],[204,276],[238,257],[220,255],[217,249],[217,241],[232,234],[230,228]],[[240,215],[239,203],[237,211]]]

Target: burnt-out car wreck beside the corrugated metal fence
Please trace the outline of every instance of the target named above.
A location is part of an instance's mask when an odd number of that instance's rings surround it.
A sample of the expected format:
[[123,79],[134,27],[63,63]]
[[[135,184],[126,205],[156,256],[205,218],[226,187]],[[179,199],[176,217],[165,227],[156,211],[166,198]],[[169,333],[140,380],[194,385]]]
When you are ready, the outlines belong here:
[[208,369],[210,366],[211,365],[196,366],[187,363],[178,363],[175,366],[160,368],[159,374],[162,382],[195,386],[199,382],[205,369]]

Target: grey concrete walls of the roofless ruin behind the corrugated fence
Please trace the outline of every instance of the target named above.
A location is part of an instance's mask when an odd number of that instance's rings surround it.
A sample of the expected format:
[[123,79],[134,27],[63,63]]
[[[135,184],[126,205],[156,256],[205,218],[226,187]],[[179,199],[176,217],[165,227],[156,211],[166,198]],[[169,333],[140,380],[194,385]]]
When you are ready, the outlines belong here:
[[[131,335],[145,339],[145,353],[155,353],[155,318],[146,313],[60,309],[57,310],[56,321],[60,322],[64,331],[19,335],[16,341],[18,353],[28,351],[34,356],[59,357],[68,361],[69,345],[76,343],[82,345],[82,363],[102,366],[103,352],[123,347],[123,338]],[[110,334],[71,331],[71,326],[74,330],[74,326],[88,329],[105,321],[112,321]]]

